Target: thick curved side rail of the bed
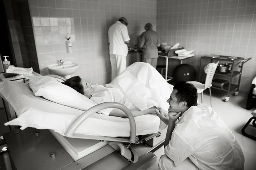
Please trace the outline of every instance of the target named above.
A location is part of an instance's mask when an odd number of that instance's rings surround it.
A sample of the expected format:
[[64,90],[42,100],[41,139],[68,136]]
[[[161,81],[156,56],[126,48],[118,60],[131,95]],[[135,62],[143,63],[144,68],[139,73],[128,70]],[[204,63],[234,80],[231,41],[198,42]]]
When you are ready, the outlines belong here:
[[118,108],[121,111],[125,112],[127,115],[129,122],[130,122],[130,127],[131,127],[131,132],[130,132],[130,140],[135,141],[136,137],[136,124],[134,120],[134,116],[132,115],[131,111],[125,107],[124,105],[117,103],[117,102],[104,102],[101,104],[98,104],[96,106],[93,106],[92,108],[88,109],[85,111],[83,114],[81,114],[67,129],[65,136],[73,136],[77,128],[81,125],[84,120],[86,120],[88,117],[91,115],[95,114],[98,111],[101,111],[102,109],[106,108]]

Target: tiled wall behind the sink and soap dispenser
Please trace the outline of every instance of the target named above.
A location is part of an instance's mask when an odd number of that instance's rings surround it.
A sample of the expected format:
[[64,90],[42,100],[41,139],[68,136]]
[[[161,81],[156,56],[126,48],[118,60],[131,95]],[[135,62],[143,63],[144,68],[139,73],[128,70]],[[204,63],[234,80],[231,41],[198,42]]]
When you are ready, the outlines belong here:
[[[132,47],[145,23],[156,26],[157,0],[29,0],[29,6],[41,74],[63,59],[79,63],[74,75],[93,84],[111,80],[107,32],[119,17],[129,21]],[[66,51],[67,37],[73,53]]]

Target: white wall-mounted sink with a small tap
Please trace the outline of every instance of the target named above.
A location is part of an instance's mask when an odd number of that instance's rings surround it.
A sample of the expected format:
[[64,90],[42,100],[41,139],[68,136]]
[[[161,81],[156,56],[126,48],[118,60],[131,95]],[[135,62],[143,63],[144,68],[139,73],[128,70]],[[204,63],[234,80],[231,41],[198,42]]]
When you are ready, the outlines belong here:
[[56,74],[62,76],[65,79],[69,79],[71,74],[75,73],[79,69],[79,65],[76,63],[65,62],[63,65],[53,64],[48,66],[50,74]]

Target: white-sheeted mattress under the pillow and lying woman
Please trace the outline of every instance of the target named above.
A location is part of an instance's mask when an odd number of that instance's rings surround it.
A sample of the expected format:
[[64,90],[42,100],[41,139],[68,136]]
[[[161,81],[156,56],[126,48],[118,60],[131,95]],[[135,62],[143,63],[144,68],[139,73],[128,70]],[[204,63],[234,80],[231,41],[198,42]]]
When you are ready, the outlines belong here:
[[[17,119],[5,125],[19,125],[21,129],[51,129],[64,135],[71,123],[84,112],[34,96],[29,85],[21,82],[0,82],[0,93],[17,114]],[[161,121],[157,115],[137,116],[134,119],[136,135],[157,133],[166,127],[162,123],[160,125]],[[130,125],[128,119],[95,113],[81,124],[76,133],[130,136]]]

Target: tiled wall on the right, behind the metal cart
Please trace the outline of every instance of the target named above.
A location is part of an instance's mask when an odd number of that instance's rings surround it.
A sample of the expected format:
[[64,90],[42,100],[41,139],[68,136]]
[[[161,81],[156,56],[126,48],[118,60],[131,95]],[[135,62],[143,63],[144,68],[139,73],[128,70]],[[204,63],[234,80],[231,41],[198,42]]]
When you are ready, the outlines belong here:
[[195,50],[185,63],[197,69],[206,54],[252,57],[241,80],[248,91],[256,76],[255,6],[256,0],[158,0],[157,31],[163,42]]

